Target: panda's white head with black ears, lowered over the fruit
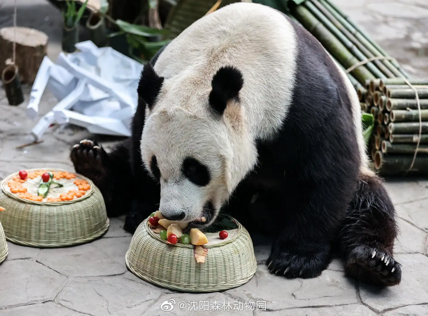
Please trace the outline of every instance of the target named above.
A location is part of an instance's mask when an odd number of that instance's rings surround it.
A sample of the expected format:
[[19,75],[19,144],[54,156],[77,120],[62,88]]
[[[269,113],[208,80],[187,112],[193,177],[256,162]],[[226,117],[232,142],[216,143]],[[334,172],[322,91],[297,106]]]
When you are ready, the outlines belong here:
[[253,165],[245,152],[254,148],[239,101],[243,84],[241,72],[227,66],[210,76],[190,71],[169,79],[144,66],[140,150],[144,167],[160,183],[159,210],[166,219],[211,224]]

